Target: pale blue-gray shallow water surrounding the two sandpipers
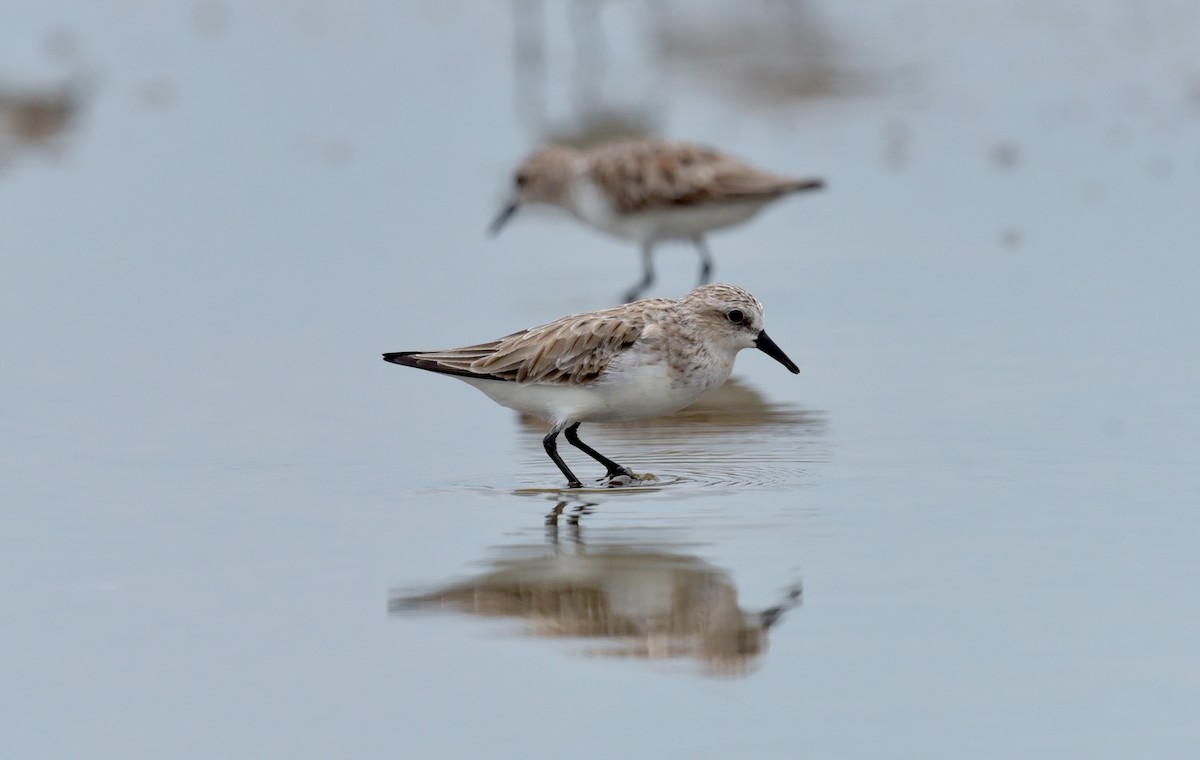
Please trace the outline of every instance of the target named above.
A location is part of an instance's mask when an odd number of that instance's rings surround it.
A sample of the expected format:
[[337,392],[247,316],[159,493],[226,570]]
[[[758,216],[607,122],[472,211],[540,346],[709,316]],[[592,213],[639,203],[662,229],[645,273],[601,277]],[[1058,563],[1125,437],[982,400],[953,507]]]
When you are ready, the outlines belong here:
[[[535,4],[4,8],[8,100],[78,109],[0,143],[0,755],[1200,752],[1200,11],[678,6],[547,10],[544,78]],[[378,354],[636,277],[552,215],[484,235],[600,110],[829,188],[712,239],[803,373],[584,426],[664,486],[553,543],[541,430]],[[389,612],[504,568],[701,633]],[[798,585],[764,651],[708,636]]]

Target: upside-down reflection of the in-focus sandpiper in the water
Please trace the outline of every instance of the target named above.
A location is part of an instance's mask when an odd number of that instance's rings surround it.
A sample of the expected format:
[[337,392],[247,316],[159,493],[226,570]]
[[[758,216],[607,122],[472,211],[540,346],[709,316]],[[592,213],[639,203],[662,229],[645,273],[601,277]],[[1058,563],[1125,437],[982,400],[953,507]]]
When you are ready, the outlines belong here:
[[768,629],[800,603],[794,585],[778,605],[746,611],[728,574],[698,557],[622,544],[588,549],[577,532],[575,538],[566,550],[514,547],[482,575],[420,596],[394,596],[389,609],[523,618],[534,636],[611,645],[587,654],[692,658],[706,672],[737,675],[766,651]]

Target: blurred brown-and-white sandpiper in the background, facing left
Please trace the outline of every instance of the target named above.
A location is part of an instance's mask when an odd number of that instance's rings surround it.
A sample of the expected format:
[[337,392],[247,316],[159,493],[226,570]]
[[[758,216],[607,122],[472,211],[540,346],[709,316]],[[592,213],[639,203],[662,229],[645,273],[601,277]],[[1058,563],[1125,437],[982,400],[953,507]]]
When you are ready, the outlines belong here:
[[565,209],[580,221],[642,245],[642,280],[631,301],[654,282],[652,255],[665,240],[691,240],[701,285],[713,274],[704,234],[750,220],[767,204],[824,186],[820,179],[769,174],[726,154],[688,143],[622,140],[581,151],[559,145],[527,157],[514,195],[490,231],[496,234],[527,203]]

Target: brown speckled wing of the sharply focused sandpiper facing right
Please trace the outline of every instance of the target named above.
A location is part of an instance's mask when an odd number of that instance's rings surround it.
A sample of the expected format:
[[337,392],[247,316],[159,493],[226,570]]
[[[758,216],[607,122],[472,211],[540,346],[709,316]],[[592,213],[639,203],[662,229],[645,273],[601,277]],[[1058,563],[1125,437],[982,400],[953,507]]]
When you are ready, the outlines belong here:
[[563,317],[476,346],[384,358],[463,377],[581,385],[595,381],[613,357],[642,335],[646,313],[626,305]]

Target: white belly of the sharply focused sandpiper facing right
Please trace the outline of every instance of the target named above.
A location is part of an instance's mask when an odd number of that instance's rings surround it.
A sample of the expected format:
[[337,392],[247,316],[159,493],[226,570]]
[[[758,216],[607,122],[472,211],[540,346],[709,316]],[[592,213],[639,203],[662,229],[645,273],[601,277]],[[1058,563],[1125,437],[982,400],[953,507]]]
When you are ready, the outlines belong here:
[[587,385],[461,379],[500,406],[552,423],[625,423],[677,412],[724,383],[727,376],[710,378],[708,383],[680,384],[673,381],[665,364],[641,364],[607,373]]

